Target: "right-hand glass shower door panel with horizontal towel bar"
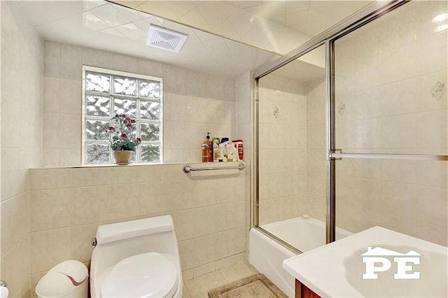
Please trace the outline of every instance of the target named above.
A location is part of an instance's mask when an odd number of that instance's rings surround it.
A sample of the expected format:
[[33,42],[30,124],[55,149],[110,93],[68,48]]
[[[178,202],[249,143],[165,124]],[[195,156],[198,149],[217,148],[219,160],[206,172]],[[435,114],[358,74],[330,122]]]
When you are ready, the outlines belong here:
[[338,227],[448,245],[447,13],[411,1],[335,40]]

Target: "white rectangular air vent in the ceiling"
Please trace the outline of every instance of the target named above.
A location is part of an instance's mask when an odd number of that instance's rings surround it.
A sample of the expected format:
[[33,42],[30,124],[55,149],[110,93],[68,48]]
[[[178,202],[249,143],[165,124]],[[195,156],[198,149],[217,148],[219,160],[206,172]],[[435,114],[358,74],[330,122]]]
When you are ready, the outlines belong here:
[[170,50],[172,52],[179,52],[186,40],[186,34],[150,24],[146,45]]

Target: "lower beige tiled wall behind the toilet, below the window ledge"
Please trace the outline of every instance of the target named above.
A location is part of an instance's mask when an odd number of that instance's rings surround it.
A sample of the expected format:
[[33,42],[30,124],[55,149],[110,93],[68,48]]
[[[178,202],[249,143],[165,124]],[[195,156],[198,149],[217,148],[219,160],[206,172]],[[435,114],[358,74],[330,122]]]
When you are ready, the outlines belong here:
[[247,170],[194,178],[182,166],[31,169],[31,277],[89,262],[99,225],[162,214],[173,216],[185,274],[235,262],[246,251]]

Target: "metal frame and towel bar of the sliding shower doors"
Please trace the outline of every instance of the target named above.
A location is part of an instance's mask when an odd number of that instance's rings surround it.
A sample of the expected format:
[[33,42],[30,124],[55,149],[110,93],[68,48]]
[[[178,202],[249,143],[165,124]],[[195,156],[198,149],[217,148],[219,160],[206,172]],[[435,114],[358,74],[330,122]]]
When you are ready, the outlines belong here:
[[254,150],[252,156],[253,164],[253,189],[251,191],[251,227],[255,227],[263,234],[269,236],[281,243],[283,246],[290,248],[298,253],[300,250],[293,248],[288,243],[282,241],[275,235],[267,232],[265,229],[259,227],[259,125],[258,125],[258,81],[260,78],[267,76],[272,71],[281,68],[285,64],[301,57],[302,55],[311,52],[321,45],[325,45],[325,109],[326,109],[326,129],[325,129],[325,150],[327,152],[327,180],[326,180],[326,219],[325,219],[325,239],[326,243],[335,241],[336,229],[336,183],[335,183],[335,162],[337,159],[344,158],[389,158],[389,159],[429,159],[429,160],[448,160],[447,155],[390,155],[390,154],[366,154],[366,153],[343,153],[335,148],[335,60],[334,47],[335,41],[351,31],[362,27],[363,25],[376,20],[381,15],[389,13],[391,10],[409,3],[410,0],[396,0],[390,1],[386,4],[380,1],[374,1],[365,8],[359,10],[357,13],[347,17],[335,26],[323,31],[318,36],[311,38],[299,48],[288,52],[280,59],[271,64],[261,66],[253,73],[254,88],[253,88],[253,116],[255,123],[253,125],[253,143]]

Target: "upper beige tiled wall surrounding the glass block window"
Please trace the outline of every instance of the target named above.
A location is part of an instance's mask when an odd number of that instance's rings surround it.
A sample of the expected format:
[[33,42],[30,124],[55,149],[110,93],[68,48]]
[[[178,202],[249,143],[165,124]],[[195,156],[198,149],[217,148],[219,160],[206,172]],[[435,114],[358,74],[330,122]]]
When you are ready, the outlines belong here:
[[200,162],[200,145],[207,132],[235,139],[235,80],[137,57],[45,41],[45,167],[80,164],[83,64],[164,79],[164,162]]

